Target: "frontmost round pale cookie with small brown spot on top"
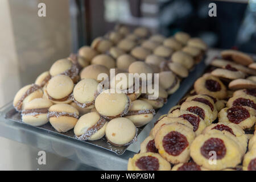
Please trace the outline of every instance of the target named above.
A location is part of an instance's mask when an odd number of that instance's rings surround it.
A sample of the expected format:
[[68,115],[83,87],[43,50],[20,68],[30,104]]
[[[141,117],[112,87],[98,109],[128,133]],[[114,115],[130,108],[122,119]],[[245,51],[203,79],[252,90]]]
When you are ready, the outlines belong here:
[[114,118],[106,126],[106,138],[114,146],[125,146],[136,140],[137,129],[127,118]]

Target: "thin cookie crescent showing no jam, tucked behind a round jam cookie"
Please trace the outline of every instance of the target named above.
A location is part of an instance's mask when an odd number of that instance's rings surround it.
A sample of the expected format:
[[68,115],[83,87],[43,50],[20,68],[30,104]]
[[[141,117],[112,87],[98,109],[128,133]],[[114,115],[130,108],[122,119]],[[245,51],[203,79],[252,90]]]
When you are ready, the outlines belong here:
[[164,117],[162,119],[159,120],[158,123],[156,123],[156,125],[153,127],[152,129],[152,137],[155,137],[156,133],[158,132],[158,130],[164,126],[164,125],[168,125],[171,123],[180,123],[184,126],[189,127],[189,129],[193,130],[193,125],[191,123],[189,123],[187,120],[183,119],[183,118],[178,118],[178,117]]

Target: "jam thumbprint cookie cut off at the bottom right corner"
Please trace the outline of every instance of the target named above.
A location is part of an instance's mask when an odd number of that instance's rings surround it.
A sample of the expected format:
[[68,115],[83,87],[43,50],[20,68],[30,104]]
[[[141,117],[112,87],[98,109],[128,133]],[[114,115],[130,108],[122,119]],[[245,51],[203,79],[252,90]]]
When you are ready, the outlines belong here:
[[256,148],[243,157],[243,171],[256,171]]

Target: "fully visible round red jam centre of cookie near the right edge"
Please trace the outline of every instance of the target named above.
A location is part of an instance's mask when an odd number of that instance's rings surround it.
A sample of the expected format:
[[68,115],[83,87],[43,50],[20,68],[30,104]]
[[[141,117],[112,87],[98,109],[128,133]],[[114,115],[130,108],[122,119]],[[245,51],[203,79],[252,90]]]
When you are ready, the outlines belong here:
[[230,122],[239,124],[240,122],[244,121],[245,119],[250,117],[249,111],[242,106],[233,106],[227,110],[227,117]]

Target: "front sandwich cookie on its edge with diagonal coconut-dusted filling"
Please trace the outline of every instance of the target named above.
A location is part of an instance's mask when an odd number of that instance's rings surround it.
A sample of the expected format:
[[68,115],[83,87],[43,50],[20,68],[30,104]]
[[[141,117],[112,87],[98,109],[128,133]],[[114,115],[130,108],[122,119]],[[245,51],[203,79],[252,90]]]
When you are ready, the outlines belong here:
[[82,115],[74,127],[75,138],[98,140],[104,137],[108,122],[96,112]]

